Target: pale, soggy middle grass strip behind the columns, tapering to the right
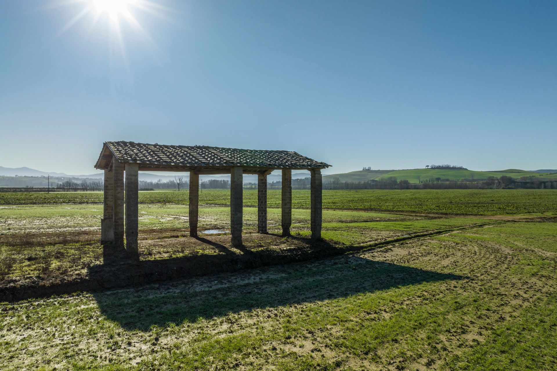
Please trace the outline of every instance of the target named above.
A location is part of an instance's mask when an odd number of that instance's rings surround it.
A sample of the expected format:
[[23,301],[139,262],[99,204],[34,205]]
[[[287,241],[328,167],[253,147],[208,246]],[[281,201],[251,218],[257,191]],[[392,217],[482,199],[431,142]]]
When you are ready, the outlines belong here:
[[[145,259],[195,255],[200,251],[184,248],[184,243],[154,247],[143,240],[188,236],[188,207],[183,205],[141,204],[139,207],[140,250]],[[87,269],[102,262],[99,243],[102,211],[92,205],[20,205],[0,209],[0,281],[41,279],[85,275]],[[199,229],[229,231],[228,207],[203,207],[199,211]],[[268,210],[270,233],[281,233],[280,209]],[[495,221],[482,218],[424,218],[361,211],[324,211],[323,237],[342,245],[379,243],[418,233],[433,233],[470,227]],[[291,231],[309,237],[310,211],[292,211]],[[257,231],[257,209],[244,208],[243,231]],[[187,245],[187,244],[186,244]],[[274,245],[252,248],[274,248]],[[219,253],[204,249],[202,253]]]

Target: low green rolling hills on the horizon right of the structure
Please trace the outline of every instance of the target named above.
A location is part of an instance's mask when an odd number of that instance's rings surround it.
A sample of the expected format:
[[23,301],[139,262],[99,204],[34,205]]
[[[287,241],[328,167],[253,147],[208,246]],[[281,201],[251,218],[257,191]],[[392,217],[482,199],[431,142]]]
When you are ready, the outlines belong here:
[[355,172],[343,173],[343,174],[331,174],[325,175],[323,180],[325,182],[330,182],[334,178],[339,178],[341,182],[364,182],[365,180],[372,179],[384,179],[388,177],[396,177],[398,180],[407,179],[410,183],[419,183],[420,180],[427,179],[449,179],[449,180],[461,180],[461,179],[477,179],[485,180],[487,177],[500,178],[502,175],[507,175],[508,177],[518,179],[520,177],[527,177],[529,175],[534,175],[535,177],[542,179],[557,179],[557,174],[555,173],[534,173],[527,172],[520,169],[506,169],[506,170],[496,170],[490,172],[478,172],[475,170],[465,170],[465,169],[408,169],[408,170],[358,170]]

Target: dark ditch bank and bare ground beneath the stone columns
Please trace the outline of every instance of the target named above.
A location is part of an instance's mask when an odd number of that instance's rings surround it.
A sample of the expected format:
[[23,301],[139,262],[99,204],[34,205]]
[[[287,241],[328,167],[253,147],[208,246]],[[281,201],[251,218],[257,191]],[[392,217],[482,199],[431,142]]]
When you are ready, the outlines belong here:
[[[91,266],[82,275],[28,277],[4,282],[0,286],[0,301],[141,286],[151,282],[306,261],[345,252],[342,246],[326,241],[312,243],[308,238],[300,237],[255,234],[244,235],[243,241],[244,246],[235,248],[230,245],[229,236],[143,240],[139,242],[139,262],[127,258],[125,251],[109,246],[105,247],[104,254],[111,257],[111,261]],[[167,255],[158,250],[166,251]],[[157,258],[149,260],[153,251],[157,251]],[[175,257],[175,253],[182,256]]]

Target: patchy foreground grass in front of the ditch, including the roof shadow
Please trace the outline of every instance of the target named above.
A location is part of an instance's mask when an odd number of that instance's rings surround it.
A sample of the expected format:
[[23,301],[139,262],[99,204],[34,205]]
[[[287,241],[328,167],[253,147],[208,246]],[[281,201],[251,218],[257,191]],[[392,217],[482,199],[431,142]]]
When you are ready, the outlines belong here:
[[557,223],[511,222],[352,256],[2,304],[0,364],[552,370],[555,235]]

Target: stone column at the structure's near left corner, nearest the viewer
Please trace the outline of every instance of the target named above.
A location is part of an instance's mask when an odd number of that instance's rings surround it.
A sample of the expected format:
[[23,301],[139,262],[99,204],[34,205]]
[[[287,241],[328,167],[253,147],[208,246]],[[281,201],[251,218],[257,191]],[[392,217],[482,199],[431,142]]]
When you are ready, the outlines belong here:
[[138,164],[126,164],[126,251],[135,259],[139,259],[138,169]]

